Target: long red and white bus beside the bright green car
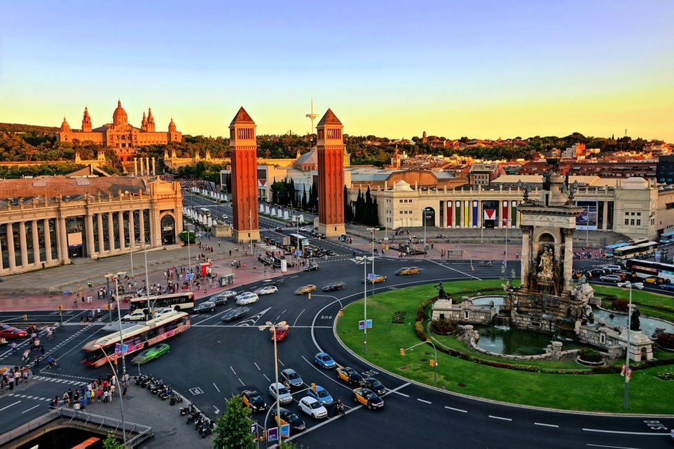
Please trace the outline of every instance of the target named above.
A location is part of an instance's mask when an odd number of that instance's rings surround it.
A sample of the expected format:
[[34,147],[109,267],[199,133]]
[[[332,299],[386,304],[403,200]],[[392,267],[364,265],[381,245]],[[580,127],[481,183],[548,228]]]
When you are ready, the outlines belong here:
[[[163,313],[159,318],[140,322],[121,331],[127,345],[126,355],[149,348],[167,338],[178,335],[190,328],[190,317],[185,312]],[[82,347],[84,366],[98,367],[114,362],[115,345],[119,343],[119,331],[88,342]],[[102,348],[102,350],[101,350]]]

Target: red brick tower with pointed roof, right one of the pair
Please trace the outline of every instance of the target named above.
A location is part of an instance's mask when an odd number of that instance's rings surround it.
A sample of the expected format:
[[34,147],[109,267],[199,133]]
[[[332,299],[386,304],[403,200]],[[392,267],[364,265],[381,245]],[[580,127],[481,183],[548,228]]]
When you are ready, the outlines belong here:
[[344,139],[342,123],[327,112],[316,125],[318,153],[318,232],[340,236],[344,229]]

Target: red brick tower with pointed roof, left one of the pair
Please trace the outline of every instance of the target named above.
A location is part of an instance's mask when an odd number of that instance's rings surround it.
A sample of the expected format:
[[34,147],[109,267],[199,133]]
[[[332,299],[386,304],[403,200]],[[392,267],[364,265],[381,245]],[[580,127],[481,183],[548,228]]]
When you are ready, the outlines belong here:
[[234,242],[260,241],[258,220],[258,158],[255,122],[241,107],[229,123],[232,159],[232,222]]

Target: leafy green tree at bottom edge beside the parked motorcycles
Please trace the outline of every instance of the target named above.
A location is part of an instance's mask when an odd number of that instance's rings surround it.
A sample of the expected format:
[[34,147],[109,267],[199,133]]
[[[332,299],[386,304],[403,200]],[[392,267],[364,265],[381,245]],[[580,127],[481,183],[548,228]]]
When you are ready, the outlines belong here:
[[214,447],[252,448],[254,445],[249,416],[250,409],[243,404],[241,397],[232,395],[227,401],[227,410],[216,421]]

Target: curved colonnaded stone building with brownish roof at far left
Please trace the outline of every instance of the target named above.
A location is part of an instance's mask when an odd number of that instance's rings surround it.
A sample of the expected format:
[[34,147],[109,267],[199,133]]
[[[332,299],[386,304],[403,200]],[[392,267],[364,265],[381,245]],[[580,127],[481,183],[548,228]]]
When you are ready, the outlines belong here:
[[0,180],[0,275],[177,241],[179,182],[153,177]]

